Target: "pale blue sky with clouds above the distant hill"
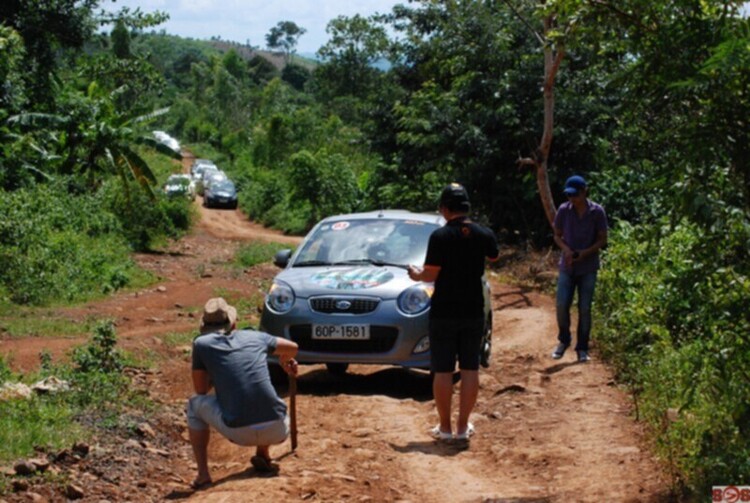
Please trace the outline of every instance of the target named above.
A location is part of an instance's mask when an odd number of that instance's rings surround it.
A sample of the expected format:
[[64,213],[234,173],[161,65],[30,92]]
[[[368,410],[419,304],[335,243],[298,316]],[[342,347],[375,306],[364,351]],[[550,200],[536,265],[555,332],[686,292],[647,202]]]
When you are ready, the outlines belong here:
[[297,52],[314,53],[328,41],[325,32],[331,19],[344,15],[370,16],[390,12],[408,0],[117,0],[102,2],[107,10],[121,7],[143,12],[167,12],[169,21],[156,27],[172,35],[208,39],[220,36],[236,42],[250,41],[264,48],[266,34],[279,21],[293,21],[305,28]]

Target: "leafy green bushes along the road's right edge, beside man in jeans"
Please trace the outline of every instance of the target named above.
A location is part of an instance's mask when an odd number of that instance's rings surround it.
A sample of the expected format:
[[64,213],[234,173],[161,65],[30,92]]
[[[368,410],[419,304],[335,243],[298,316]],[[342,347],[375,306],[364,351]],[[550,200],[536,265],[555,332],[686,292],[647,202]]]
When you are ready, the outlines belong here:
[[603,354],[696,491],[750,483],[750,225],[720,222],[620,224],[597,295]]

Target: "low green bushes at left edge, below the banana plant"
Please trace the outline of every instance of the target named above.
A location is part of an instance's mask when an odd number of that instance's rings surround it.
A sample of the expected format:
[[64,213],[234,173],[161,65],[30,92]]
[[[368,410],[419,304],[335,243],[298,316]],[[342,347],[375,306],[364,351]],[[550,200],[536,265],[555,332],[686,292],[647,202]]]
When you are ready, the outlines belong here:
[[127,286],[137,269],[115,216],[64,184],[0,198],[0,284],[22,304],[74,301]]

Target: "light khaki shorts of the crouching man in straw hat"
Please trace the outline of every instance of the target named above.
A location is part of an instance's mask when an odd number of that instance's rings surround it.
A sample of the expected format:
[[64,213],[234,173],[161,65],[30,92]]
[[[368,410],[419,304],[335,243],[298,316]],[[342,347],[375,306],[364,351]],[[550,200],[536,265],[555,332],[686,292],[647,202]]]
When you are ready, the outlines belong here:
[[289,436],[289,417],[265,423],[230,428],[221,418],[216,395],[193,395],[187,404],[188,428],[205,430],[213,427],[232,443],[242,446],[280,444]]

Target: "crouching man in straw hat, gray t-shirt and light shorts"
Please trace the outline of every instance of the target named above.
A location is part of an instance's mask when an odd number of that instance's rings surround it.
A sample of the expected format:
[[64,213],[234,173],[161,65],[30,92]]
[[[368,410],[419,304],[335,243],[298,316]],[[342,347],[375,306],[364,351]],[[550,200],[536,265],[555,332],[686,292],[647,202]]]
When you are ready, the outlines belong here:
[[[237,310],[223,298],[203,309],[200,333],[193,342],[193,387],[187,420],[198,476],[191,486],[211,483],[208,471],[209,427],[231,442],[256,446],[250,460],[258,471],[270,471],[269,446],[289,435],[286,404],[271,385],[267,357],[278,356],[290,375],[297,375],[297,344],[254,330],[235,330]],[[215,395],[209,395],[211,388]]]

